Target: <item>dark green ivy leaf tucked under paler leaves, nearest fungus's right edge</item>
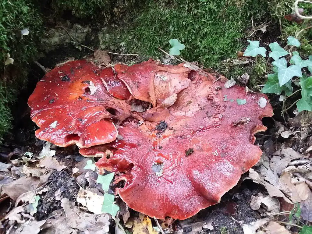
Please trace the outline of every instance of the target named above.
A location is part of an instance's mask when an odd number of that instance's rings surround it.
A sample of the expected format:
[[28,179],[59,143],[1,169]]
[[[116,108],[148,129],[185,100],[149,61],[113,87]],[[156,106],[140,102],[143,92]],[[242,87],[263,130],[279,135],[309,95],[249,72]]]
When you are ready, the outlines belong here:
[[261,92],[280,95],[282,91],[285,91],[285,94],[289,96],[290,94],[292,94],[291,82],[287,82],[286,84],[280,86],[280,84],[278,83],[277,74],[268,74],[268,80],[266,81],[266,84],[262,88]]

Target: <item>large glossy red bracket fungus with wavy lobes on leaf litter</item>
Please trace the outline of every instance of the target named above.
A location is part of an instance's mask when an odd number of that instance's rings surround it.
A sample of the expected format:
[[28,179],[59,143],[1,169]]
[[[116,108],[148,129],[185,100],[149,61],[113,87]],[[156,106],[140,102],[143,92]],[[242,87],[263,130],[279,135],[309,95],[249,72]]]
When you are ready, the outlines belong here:
[[132,209],[186,219],[219,202],[260,159],[254,134],[272,116],[266,95],[225,88],[225,78],[183,64],[149,60],[115,71],[66,63],[46,74],[28,104],[36,136],[103,156],[97,167],[125,181],[115,192]]

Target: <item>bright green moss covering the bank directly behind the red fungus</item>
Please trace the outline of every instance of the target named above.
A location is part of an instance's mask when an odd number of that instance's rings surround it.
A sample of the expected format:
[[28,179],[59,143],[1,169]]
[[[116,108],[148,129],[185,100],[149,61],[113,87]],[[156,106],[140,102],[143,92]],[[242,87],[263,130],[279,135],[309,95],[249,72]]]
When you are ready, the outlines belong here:
[[118,42],[129,52],[161,57],[157,47],[169,51],[169,39],[177,38],[186,46],[184,59],[211,67],[236,54],[251,15],[263,17],[266,7],[260,0],[149,0]]

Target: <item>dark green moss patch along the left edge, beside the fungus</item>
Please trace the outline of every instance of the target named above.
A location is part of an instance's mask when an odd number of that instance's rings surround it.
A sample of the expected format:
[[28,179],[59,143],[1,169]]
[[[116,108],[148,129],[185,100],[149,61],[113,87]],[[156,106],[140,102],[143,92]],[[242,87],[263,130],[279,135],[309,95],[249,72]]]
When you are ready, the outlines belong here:
[[[0,138],[11,127],[9,106],[16,100],[17,90],[27,82],[28,64],[37,55],[41,34],[41,17],[26,0],[0,0]],[[29,34],[21,37],[22,29]],[[6,54],[13,65],[4,66]]]

